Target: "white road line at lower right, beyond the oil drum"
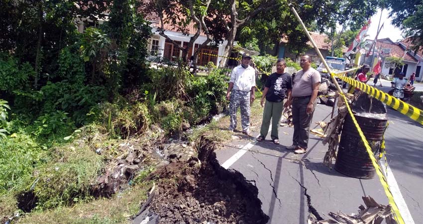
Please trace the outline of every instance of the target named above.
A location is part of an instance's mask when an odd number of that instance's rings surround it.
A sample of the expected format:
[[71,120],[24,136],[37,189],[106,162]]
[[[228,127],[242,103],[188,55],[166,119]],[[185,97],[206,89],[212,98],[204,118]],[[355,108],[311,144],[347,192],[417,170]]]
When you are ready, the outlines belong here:
[[385,160],[381,159],[379,162],[383,172],[385,173],[386,181],[388,181],[389,189],[391,189],[391,193],[394,196],[395,204],[397,204],[404,222],[406,224],[415,224],[410,210],[407,207],[406,201],[404,200],[400,188],[398,187],[398,183],[395,180],[394,173],[392,173],[389,165],[385,163]]

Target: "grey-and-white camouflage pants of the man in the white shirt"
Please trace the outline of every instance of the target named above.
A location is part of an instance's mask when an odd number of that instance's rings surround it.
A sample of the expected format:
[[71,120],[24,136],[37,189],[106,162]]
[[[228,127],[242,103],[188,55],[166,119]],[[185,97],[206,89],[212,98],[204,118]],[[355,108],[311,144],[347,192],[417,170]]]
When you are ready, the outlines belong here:
[[249,131],[250,128],[250,92],[232,90],[229,104],[230,125],[229,129],[236,129],[236,111],[241,108],[242,131]]

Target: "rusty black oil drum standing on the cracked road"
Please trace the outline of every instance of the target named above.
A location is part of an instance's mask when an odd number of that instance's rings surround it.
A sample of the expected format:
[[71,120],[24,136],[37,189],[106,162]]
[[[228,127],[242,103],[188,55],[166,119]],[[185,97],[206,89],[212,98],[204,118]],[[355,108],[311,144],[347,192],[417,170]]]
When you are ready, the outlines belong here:
[[[358,125],[366,136],[373,154],[379,159],[379,149],[388,119],[355,115]],[[342,127],[341,140],[335,162],[335,170],[350,177],[371,179],[375,168],[358,134],[357,128],[347,114]]]

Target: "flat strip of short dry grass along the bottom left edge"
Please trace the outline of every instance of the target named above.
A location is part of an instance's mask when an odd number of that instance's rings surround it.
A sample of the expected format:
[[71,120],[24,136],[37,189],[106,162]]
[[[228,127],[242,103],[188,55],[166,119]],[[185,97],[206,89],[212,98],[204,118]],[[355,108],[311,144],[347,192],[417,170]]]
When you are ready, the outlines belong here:
[[129,224],[129,218],[138,213],[147,198],[151,182],[128,188],[110,199],[80,202],[73,207],[59,207],[31,213],[19,224]]

